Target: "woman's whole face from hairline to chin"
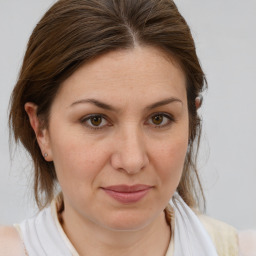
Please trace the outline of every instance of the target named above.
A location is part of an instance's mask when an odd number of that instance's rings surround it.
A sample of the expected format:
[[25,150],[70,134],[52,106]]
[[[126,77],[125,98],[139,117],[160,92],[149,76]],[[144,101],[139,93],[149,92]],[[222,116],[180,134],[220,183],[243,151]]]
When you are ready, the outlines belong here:
[[107,53],[62,84],[44,136],[69,216],[141,229],[163,212],[181,178],[185,75],[156,48]]

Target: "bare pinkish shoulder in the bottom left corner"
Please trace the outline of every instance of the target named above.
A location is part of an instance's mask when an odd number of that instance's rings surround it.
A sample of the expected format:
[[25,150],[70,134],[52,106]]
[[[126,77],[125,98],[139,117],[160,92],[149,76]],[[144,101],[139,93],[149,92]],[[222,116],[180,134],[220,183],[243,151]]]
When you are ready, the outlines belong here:
[[14,227],[0,226],[0,255],[24,256],[23,244]]

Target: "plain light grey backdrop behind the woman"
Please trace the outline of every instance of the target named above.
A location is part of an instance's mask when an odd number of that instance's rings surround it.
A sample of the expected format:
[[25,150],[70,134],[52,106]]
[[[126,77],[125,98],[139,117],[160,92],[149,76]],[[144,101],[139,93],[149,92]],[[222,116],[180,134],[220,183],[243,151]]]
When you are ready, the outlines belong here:
[[[21,148],[9,154],[7,111],[28,38],[54,2],[0,0],[0,224],[36,212],[29,158]],[[256,1],[175,2],[209,83],[199,159],[207,214],[238,229],[256,228]]]

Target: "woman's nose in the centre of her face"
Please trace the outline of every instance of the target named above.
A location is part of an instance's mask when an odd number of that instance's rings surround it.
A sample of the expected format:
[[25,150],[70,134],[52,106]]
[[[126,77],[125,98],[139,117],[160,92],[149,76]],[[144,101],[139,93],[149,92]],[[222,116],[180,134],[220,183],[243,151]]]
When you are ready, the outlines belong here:
[[145,138],[137,128],[126,127],[117,135],[111,165],[114,169],[132,175],[143,170],[149,163]]

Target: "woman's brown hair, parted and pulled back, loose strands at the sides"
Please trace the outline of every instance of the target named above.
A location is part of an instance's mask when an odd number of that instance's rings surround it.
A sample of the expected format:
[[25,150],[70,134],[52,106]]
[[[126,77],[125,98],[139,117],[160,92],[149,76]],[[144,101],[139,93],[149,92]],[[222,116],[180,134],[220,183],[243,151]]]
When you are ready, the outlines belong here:
[[[61,83],[82,64],[109,51],[136,44],[162,49],[176,59],[187,78],[189,148],[178,192],[191,207],[197,205],[199,181],[193,145],[199,145],[200,119],[196,97],[206,84],[190,29],[171,0],[60,0],[35,27],[18,82],[11,97],[9,125],[34,162],[34,194],[40,208],[54,196],[56,174],[44,160],[28,116],[26,102],[38,106],[47,127],[53,99]],[[197,152],[197,150],[196,150]]]

